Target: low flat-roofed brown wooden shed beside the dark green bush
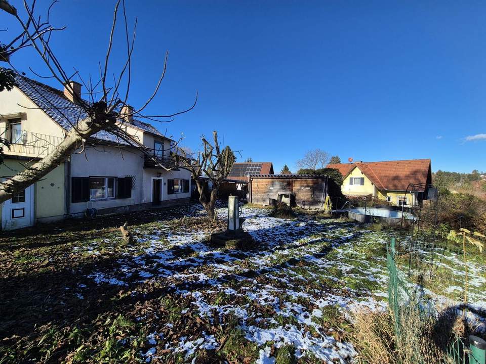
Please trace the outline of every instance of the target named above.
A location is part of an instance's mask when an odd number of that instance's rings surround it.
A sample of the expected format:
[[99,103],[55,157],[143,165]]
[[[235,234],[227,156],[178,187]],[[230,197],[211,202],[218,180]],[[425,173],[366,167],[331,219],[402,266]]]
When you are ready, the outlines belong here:
[[277,202],[283,201],[305,209],[320,209],[328,195],[332,198],[334,197],[332,192],[340,190],[335,185],[334,181],[327,175],[251,175],[250,202],[269,205],[270,199],[275,199]]

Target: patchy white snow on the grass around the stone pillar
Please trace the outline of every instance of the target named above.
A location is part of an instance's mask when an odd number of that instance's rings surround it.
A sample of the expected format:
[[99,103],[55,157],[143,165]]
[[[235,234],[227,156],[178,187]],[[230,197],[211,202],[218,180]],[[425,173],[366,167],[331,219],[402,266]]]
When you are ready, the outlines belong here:
[[[186,303],[175,302],[170,317],[150,320],[156,313],[149,310],[141,316],[154,332],[147,337],[152,347],[140,353],[148,361],[168,353],[190,362],[208,351],[231,355],[238,347],[253,362],[273,363],[272,353],[289,345],[296,358],[352,360],[357,353],[343,339],[342,325],[353,311],[386,308],[389,235],[348,221],[279,219],[254,208],[243,208],[242,217],[259,250],[217,249],[207,243],[208,229],[161,221],[148,232],[134,229],[143,249],[129,247],[116,264],[88,277],[129,286],[142,298],[146,292],[137,285],[144,282]],[[178,331],[173,324],[180,317],[195,320],[198,329]],[[163,331],[170,335],[155,339]]]

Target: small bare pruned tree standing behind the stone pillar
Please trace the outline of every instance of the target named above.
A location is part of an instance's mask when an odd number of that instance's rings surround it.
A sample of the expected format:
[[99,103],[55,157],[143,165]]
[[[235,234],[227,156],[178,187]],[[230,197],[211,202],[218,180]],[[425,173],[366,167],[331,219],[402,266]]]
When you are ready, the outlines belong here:
[[[199,202],[205,208],[208,217],[214,220],[216,219],[214,206],[219,188],[228,176],[236,158],[228,146],[221,149],[216,130],[213,131],[213,144],[204,135],[201,140],[203,141],[202,150],[197,152],[197,157],[188,156],[183,149],[179,149],[177,155],[180,158],[180,164],[191,172],[192,178],[196,181]],[[211,189],[210,181],[213,185]]]

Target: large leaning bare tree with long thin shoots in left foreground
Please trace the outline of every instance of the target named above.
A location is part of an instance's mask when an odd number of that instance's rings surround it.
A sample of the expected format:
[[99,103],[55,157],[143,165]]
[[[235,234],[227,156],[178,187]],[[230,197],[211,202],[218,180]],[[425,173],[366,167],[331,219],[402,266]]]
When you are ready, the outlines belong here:
[[[53,1],[52,5],[54,5],[55,2],[56,0]],[[119,72],[117,72],[117,76],[115,76],[109,67],[109,61],[112,53],[113,34],[117,23],[117,17],[119,16],[120,4],[122,17],[124,20],[127,56],[123,67]],[[15,67],[11,63],[10,57],[12,54],[25,47],[33,48],[49,70],[49,76],[46,77],[55,79],[62,86],[66,87],[68,92],[72,95],[76,107],[80,108],[82,112],[79,113],[78,120],[75,122],[66,118],[66,121],[71,125],[71,129],[69,132],[67,132],[65,139],[58,146],[56,146],[51,153],[31,166],[26,165],[25,170],[11,178],[8,178],[6,181],[0,184],[0,203],[8,200],[12,197],[12,195],[19,193],[43,178],[47,173],[64,162],[65,159],[69,157],[76,149],[84,148],[85,142],[87,142],[90,136],[96,132],[100,130],[107,130],[122,140],[130,140],[132,143],[137,144],[137,141],[127,134],[124,131],[124,128],[121,127],[130,117],[137,116],[138,118],[145,118],[152,121],[169,122],[173,120],[172,118],[174,116],[191,110],[197,102],[196,93],[194,104],[187,110],[169,115],[142,114],[143,110],[156,96],[160,84],[164,79],[168,59],[168,53],[166,53],[164,63],[161,65],[161,75],[158,77],[154,90],[146,102],[140,108],[133,110],[131,113],[125,112],[122,114],[121,110],[124,109],[125,106],[128,106],[127,100],[132,79],[132,53],[134,49],[133,47],[137,27],[137,20],[135,20],[133,35],[130,37],[128,20],[125,11],[125,0],[117,0],[115,4],[111,31],[108,37],[107,53],[104,57],[104,62],[99,64],[99,74],[96,76],[95,80],[93,80],[92,76],[90,75],[87,82],[81,78],[76,70],[74,70],[74,74],[72,75],[67,74],[50,47],[52,33],[56,30],[63,29],[55,28],[50,25],[49,12],[51,7],[49,7],[46,19],[41,20],[41,17],[35,15],[34,13],[35,0],[32,1],[30,6],[27,4],[27,0],[25,0],[24,10],[26,17],[25,19],[22,19],[16,8],[11,6],[6,0],[0,0],[0,10],[14,16],[21,27],[20,35],[14,37],[14,39],[8,44],[1,46],[0,61],[7,62],[11,66],[13,71],[8,72],[14,72],[14,74],[11,75],[14,76],[15,73],[18,73],[18,71],[15,70]],[[113,74],[113,79],[108,76],[110,74]],[[69,82],[74,75],[78,75],[82,79],[83,84],[87,87],[89,95],[88,101],[77,95],[71,82]],[[9,89],[8,87],[12,86],[9,81],[11,81],[11,79],[9,79],[9,76],[7,76],[7,90]],[[121,89],[121,85],[125,85],[123,90]],[[55,108],[55,106],[53,106],[53,108]]]

